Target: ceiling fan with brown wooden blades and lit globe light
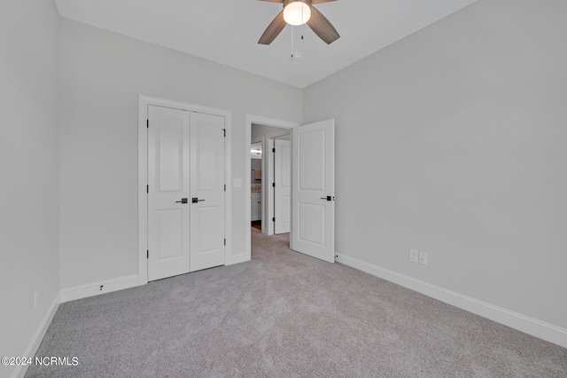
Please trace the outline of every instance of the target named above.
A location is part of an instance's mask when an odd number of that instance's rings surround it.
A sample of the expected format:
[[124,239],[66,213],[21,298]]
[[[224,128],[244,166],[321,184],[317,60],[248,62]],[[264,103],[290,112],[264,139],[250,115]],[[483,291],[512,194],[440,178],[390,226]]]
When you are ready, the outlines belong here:
[[264,34],[260,36],[258,43],[269,44],[276,39],[285,25],[303,25],[307,23],[316,35],[318,35],[325,43],[335,42],[340,35],[337,30],[330,24],[329,20],[317,11],[313,4],[328,3],[336,0],[260,0],[268,3],[283,3],[283,11],[280,12],[276,19],[268,25]]

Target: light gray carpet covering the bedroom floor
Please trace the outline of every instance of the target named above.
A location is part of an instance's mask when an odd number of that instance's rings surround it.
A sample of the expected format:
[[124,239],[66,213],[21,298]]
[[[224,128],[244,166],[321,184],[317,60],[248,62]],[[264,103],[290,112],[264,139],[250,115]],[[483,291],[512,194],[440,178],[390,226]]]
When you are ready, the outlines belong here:
[[252,229],[252,261],[63,303],[27,377],[567,377],[567,350]]

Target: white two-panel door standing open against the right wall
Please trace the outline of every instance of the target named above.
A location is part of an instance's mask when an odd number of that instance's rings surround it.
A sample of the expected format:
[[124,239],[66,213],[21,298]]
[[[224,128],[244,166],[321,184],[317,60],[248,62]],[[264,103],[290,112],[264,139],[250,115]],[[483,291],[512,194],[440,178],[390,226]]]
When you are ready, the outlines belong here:
[[335,120],[299,126],[291,134],[291,249],[333,263]]

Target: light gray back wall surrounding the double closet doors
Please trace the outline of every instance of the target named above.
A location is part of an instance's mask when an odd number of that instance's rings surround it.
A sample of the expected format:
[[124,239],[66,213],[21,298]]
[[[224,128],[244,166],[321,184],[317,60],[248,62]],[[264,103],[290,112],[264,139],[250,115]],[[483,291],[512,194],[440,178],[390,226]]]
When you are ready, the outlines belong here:
[[[245,177],[245,114],[301,118],[297,88],[63,19],[63,288],[137,272],[139,94],[230,110],[233,177]],[[245,187],[233,188],[235,255],[245,252],[249,232]]]

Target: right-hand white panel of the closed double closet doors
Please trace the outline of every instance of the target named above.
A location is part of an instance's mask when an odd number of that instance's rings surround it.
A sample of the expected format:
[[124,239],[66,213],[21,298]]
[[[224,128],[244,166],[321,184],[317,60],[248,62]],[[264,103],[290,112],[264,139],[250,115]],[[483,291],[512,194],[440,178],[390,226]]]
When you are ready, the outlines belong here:
[[190,272],[224,264],[224,117],[191,114]]

